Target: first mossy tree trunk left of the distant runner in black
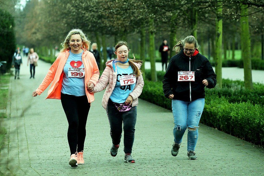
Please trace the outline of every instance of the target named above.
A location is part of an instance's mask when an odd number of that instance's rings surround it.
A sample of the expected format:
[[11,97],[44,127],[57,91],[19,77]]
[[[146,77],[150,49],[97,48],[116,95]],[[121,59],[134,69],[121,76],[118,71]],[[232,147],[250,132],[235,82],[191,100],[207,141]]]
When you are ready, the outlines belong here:
[[151,81],[157,81],[157,73],[155,66],[155,33],[154,33],[154,20],[149,20],[149,58],[150,58],[150,72]]

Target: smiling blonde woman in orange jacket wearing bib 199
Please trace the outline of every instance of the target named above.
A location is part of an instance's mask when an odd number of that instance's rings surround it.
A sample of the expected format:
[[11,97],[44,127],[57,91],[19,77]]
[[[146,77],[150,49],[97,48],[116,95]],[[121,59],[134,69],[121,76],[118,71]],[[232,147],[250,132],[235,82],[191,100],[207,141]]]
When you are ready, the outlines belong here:
[[69,165],[77,167],[84,164],[85,126],[90,103],[94,101],[94,94],[88,92],[86,85],[96,85],[99,69],[89,51],[90,41],[80,29],[72,29],[61,45],[57,59],[32,96],[40,95],[51,84],[46,99],[61,99],[69,125]]

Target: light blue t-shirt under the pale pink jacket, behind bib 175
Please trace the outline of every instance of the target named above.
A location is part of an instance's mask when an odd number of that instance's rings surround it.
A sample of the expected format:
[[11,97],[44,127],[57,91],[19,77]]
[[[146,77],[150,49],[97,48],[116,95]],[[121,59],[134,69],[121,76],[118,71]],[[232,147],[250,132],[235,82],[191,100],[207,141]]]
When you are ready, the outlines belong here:
[[133,74],[133,69],[131,68],[131,66],[129,66],[128,68],[125,68],[125,69],[117,66],[117,82],[116,82],[116,86],[115,86],[115,88],[114,88],[114,90],[110,96],[110,99],[113,102],[124,103],[125,100],[127,99],[128,95],[134,90],[136,82],[134,84],[121,86],[120,81],[119,81],[120,76],[131,75],[131,74]]

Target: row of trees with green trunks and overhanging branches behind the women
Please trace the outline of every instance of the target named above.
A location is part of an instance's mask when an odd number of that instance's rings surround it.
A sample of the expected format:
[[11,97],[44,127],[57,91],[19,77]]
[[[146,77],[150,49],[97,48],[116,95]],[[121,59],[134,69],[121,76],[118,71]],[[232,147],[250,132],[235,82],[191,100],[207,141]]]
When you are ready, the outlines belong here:
[[105,63],[107,46],[128,41],[143,61],[148,53],[153,81],[154,52],[163,38],[172,48],[176,40],[194,35],[201,53],[209,44],[219,87],[222,50],[229,48],[234,53],[235,45],[241,46],[245,86],[252,89],[251,52],[263,50],[263,7],[263,0],[28,0],[14,14],[17,42],[27,46],[58,46],[70,29],[80,28],[103,47]]

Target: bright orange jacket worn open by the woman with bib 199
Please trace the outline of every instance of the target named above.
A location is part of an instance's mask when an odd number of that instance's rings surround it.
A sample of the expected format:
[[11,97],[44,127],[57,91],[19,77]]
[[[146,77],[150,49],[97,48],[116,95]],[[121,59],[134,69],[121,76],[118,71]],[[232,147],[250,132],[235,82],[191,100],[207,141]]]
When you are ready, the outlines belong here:
[[[87,51],[84,48],[82,49],[84,50],[81,56],[81,60],[85,68],[85,85],[87,85],[89,81],[96,85],[100,73],[96,64],[95,57],[90,51]],[[57,59],[51,65],[51,68],[46,74],[44,80],[36,89],[38,95],[42,94],[42,92],[51,84],[46,99],[60,99],[60,91],[62,88],[62,79],[64,74],[63,68],[69,55],[69,50],[59,53]],[[95,100],[94,94],[88,92],[87,88],[85,89],[85,92],[88,102],[93,102]]]

